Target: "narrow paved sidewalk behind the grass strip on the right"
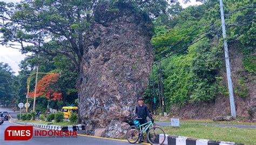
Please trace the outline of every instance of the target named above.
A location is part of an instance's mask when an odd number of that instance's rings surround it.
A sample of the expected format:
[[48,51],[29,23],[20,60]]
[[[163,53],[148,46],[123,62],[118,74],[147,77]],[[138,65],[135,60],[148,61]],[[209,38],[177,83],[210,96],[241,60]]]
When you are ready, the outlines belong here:
[[[171,126],[171,122],[156,122],[159,126]],[[203,125],[203,126],[222,126],[222,127],[238,127],[238,128],[254,128],[256,126],[246,126],[246,125],[228,125],[228,124],[218,124],[218,123],[184,123],[181,122],[181,125]]]

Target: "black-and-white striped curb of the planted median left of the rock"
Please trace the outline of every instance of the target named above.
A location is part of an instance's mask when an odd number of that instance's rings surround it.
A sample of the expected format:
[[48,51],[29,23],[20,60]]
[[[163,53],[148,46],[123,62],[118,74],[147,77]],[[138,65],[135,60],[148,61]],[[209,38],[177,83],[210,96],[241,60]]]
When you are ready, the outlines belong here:
[[23,126],[33,126],[33,127],[38,127],[38,128],[43,128],[43,129],[49,129],[49,130],[71,130],[71,132],[73,132],[73,130],[79,131],[79,130],[85,130],[85,126],[84,125],[75,125],[75,126],[55,126],[55,125],[42,125],[42,124],[38,124],[38,123],[26,123],[26,122],[18,122],[18,121],[12,121],[14,123],[17,123],[19,125],[23,125]]

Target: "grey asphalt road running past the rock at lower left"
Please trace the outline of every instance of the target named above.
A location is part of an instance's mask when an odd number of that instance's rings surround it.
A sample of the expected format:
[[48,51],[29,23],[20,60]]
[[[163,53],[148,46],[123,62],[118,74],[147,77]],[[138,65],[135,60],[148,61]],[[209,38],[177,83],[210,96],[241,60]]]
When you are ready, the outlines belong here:
[[[1,111],[8,111],[10,112],[11,116],[14,118],[17,115],[17,112],[13,113],[12,110],[6,109],[6,108],[0,108]],[[52,138],[52,137],[36,137],[33,136],[28,141],[4,141],[4,130],[8,126],[18,126],[10,121],[4,121],[2,125],[0,125],[0,144],[15,144],[15,145],[51,145],[51,144],[61,144],[61,145],[76,145],[76,144],[90,144],[90,145],[119,145],[119,144],[130,144],[126,140],[114,140],[114,139],[106,139],[106,138],[98,138],[93,136],[84,136],[82,134],[78,134],[77,137],[64,137],[64,138]],[[35,130],[35,128],[33,128]],[[38,129],[36,129],[38,130]],[[143,143],[147,144],[147,143]]]

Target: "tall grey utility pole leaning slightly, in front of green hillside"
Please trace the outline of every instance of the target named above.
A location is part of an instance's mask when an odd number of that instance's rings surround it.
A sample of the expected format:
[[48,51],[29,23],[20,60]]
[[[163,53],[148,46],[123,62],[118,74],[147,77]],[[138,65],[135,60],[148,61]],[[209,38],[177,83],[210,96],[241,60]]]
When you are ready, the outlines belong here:
[[227,84],[228,84],[228,92],[230,94],[230,108],[231,108],[231,115],[235,119],[235,118],[237,118],[237,114],[235,113],[234,93],[233,93],[231,71],[230,71],[230,59],[228,58],[228,48],[227,48],[227,40],[226,40],[223,2],[222,2],[222,0],[219,0],[219,2],[220,2],[221,26],[222,26],[223,39],[224,39],[224,51],[225,51],[225,61],[226,61],[226,70],[227,70]]

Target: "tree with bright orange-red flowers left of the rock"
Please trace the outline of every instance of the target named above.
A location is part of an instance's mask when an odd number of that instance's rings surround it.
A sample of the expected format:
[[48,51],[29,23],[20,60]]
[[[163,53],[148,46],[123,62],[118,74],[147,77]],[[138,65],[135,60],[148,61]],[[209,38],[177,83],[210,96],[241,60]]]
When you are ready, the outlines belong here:
[[[59,74],[46,74],[44,77],[38,81],[36,96],[45,96],[49,99],[49,101],[53,100],[61,100],[62,93],[58,88],[58,84],[56,83],[59,79]],[[35,92],[29,93],[31,96],[35,94]]]

